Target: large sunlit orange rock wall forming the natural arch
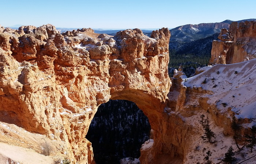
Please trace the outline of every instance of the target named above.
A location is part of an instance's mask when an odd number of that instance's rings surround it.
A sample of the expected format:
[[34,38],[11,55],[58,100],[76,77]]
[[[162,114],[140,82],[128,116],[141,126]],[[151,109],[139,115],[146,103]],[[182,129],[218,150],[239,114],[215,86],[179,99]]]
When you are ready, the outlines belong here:
[[[1,141],[14,144],[22,138],[18,130],[5,128],[14,124],[26,130],[26,138],[49,142],[55,159],[94,163],[85,135],[98,106],[127,99],[143,110],[159,138],[157,160],[158,153],[170,149],[162,140],[166,123],[159,121],[171,85],[169,38],[167,28],[153,31],[151,38],[139,29],[113,37],[90,29],[61,35],[50,24],[5,28],[0,34],[0,112],[5,117],[0,121],[5,123],[1,135],[11,137]],[[31,138],[19,146],[40,151],[39,141]]]

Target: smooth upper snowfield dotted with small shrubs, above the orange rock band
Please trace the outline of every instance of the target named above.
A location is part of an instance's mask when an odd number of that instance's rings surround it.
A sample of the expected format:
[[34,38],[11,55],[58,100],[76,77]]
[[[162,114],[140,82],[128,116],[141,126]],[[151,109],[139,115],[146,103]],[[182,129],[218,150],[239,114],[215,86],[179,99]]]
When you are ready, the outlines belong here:
[[[208,104],[217,105],[222,112],[228,109],[237,118],[256,121],[256,59],[230,65],[215,65],[194,77],[184,79],[186,87],[202,87],[211,91]],[[252,122],[251,125],[256,124]]]

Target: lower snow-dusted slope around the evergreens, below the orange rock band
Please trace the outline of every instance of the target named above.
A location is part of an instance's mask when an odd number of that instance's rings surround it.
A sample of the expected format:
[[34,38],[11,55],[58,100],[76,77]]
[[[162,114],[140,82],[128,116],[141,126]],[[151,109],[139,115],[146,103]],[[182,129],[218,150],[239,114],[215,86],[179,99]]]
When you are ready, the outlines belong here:
[[[184,164],[204,164],[207,161],[204,157],[207,155],[207,152],[211,152],[211,156],[209,160],[212,161],[212,164],[224,164],[223,159],[225,157],[225,153],[229,149],[230,146],[234,149],[234,157],[236,159],[235,163],[238,164],[255,164],[256,159],[253,157],[256,155],[256,151],[250,153],[250,149],[244,147],[241,151],[238,150],[235,141],[232,136],[225,136],[223,134],[223,128],[215,125],[214,121],[210,121],[210,128],[212,132],[215,133],[214,143],[209,143],[204,141],[201,136],[204,135],[204,130],[202,125],[198,120],[200,120],[200,114],[206,113],[197,113],[192,117],[185,118],[186,122],[193,124],[193,128],[199,133],[198,136],[194,136],[192,143],[190,143],[190,148],[188,149],[188,153],[184,158]],[[240,148],[244,143],[240,144]],[[254,149],[255,150],[255,149]],[[249,159],[253,157],[252,159]],[[244,161],[244,162],[242,162]]]

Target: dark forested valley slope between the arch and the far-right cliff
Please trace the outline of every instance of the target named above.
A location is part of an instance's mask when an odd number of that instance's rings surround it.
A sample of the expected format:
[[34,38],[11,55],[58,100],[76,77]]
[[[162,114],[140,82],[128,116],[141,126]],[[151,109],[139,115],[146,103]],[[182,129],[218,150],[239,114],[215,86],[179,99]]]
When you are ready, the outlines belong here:
[[218,33],[193,42],[170,42],[169,46],[169,75],[182,65],[187,77],[193,76],[197,67],[207,66],[211,58],[212,40],[217,39]]

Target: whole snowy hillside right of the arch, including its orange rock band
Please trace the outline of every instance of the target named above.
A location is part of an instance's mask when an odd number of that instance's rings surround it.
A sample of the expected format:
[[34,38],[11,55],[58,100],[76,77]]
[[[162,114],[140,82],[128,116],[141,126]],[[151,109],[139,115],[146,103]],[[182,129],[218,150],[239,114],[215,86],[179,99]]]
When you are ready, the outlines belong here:
[[[246,135],[256,125],[256,59],[246,62],[204,67],[194,77],[187,78],[181,69],[174,72],[173,86],[168,94],[173,103],[166,112],[180,117],[190,132],[184,144],[184,164],[205,163],[206,153],[211,152],[212,163],[223,163],[230,146],[235,152],[235,163],[255,164],[256,151],[246,146]],[[179,84],[180,88],[177,87]],[[177,101],[176,101],[177,99]],[[175,102],[176,101],[176,102]],[[208,113],[207,113],[208,110]],[[200,116],[209,117],[209,125],[215,133],[213,143],[202,139],[205,130],[199,122]],[[242,125],[238,150],[231,129],[232,117]],[[239,119],[240,118],[240,119]],[[185,129],[185,128],[183,128]],[[173,133],[175,130],[173,131]],[[252,158],[251,158],[252,157]]]

